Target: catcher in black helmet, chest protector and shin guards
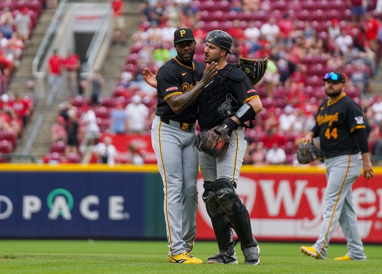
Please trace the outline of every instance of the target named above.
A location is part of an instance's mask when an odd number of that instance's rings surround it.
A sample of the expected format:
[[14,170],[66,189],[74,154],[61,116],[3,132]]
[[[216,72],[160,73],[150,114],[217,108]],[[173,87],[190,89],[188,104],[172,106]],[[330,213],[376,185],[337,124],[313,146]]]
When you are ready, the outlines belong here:
[[[203,201],[211,217],[217,238],[219,253],[208,258],[207,263],[237,264],[232,230],[235,229],[241,241],[245,264],[259,264],[260,248],[252,235],[248,211],[237,195],[235,188],[246,151],[243,124],[254,120],[262,110],[262,104],[248,76],[237,64],[227,64],[227,54],[232,39],[227,32],[215,30],[208,34],[204,50],[205,62],[218,65],[218,73],[199,95],[198,123],[201,130],[220,125],[227,128],[231,145],[219,158],[199,152],[199,165],[204,180]],[[159,79],[159,72],[156,79]],[[146,68],[144,79],[156,87],[154,75]],[[159,83],[158,83],[159,85]],[[241,105],[230,117],[221,117],[219,107],[228,97],[235,98]]]

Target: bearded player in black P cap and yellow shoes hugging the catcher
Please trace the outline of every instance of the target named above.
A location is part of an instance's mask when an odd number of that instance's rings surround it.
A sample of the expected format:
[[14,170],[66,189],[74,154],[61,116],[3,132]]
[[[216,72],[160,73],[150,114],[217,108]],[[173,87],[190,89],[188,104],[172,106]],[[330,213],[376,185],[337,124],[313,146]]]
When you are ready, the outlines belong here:
[[174,47],[177,56],[157,71],[151,140],[163,179],[168,260],[199,264],[203,261],[189,254],[196,235],[198,175],[198,154],[192,146],[197,97],[216,75],[217,65],[193,60],[196,41],[189,28],[175,31]]

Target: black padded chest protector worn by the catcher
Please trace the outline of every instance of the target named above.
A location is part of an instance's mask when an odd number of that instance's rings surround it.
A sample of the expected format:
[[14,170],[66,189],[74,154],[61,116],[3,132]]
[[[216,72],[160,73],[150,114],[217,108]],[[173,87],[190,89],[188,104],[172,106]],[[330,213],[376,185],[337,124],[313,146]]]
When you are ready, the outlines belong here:
[[[197,120],[201,130],[213,128],[223,122],[224,119],[219,117],[218,108],[227,99],[227,94],[230,93],[225,87],[227,75],[236,68],[240,69],[237,64],[227,64],[222,70],[219,70],[218,75],[199,95]],[[231,95],[237,99],[235,94],[231,93]]]

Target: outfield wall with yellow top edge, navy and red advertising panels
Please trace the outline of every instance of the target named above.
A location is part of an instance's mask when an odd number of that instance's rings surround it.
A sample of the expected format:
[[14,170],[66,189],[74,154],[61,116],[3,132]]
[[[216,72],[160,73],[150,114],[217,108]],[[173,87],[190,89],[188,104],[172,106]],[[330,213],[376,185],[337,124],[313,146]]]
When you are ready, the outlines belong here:
[[[382,243],[382,168],[358,178],[353,201],[364,242]],[[199,176],[199,201],[202,201]],[[258,240],[313,241],[322,224],[323,167],[243,166],[238,194]],[[166,238],[156,165],[0,165],[0,238]],[[214,240],[204,203],[197,239]],[[338,226],[332,241],[343,242]]]

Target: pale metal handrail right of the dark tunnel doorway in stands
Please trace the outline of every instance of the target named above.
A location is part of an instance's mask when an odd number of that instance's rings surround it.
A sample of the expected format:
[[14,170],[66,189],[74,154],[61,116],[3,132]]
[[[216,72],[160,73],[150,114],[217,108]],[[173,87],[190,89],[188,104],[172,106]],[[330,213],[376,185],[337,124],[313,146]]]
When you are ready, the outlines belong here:
[[84,68],[86,71],[83,71],[80,73],[80,77],[82,79],[87,79],[90,77],[91,70],[93,67],[93,64],[95,62],[95,58],[97,57],[100,47],[102,45],[102,42],[104,42],[104,39],[106,37],[106,34],[109,32],[111,28],[111,21],[112,21],[112,9],[110,5],[107,6],[107,13],[105,15],[104,20],[102,21],[102,26],[98,33],[95,33],[93,36],[92,41],[90,42],[89,48],[86,52],[86,64],[84,65]]

